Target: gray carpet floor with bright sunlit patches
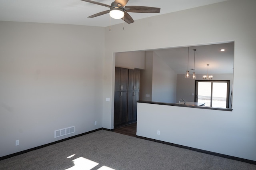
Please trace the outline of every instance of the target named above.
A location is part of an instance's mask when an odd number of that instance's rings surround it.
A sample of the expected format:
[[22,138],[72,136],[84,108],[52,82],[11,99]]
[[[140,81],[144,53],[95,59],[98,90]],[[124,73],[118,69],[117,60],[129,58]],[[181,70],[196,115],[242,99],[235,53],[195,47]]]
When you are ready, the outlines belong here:
[[256,165],[99,130],[0,161],[1,170],[256,170]]

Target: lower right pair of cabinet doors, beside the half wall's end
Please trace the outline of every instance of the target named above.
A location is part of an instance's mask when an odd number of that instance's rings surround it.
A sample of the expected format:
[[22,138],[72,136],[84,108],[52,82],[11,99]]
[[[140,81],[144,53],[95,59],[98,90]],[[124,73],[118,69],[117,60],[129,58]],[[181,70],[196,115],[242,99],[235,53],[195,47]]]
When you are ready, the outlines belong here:
[[127,122],[137,120],[137,101],[139,91],[128,91]]

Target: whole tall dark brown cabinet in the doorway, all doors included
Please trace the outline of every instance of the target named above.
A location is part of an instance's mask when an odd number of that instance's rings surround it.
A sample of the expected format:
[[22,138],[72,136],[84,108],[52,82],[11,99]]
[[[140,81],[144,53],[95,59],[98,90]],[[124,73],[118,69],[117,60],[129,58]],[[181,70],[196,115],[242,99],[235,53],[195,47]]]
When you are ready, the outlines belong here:
[[137,121],[140,71],[116,67],[114,127]]

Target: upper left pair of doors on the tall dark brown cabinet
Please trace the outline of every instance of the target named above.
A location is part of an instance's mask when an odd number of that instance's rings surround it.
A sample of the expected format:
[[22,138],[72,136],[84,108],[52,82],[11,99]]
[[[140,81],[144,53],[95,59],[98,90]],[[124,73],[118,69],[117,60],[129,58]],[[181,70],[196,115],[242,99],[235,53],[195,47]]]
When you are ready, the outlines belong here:
[[128,90],[128,69],[116,67],[115,69],[115,91]]

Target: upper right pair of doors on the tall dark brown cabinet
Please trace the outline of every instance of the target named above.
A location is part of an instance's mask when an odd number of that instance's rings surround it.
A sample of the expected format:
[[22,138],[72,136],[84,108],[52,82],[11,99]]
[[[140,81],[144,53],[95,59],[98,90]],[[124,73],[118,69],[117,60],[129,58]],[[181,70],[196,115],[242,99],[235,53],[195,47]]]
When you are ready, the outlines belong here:
[[129,69],[128,75],[128,90],[140,89],[140,70]]

